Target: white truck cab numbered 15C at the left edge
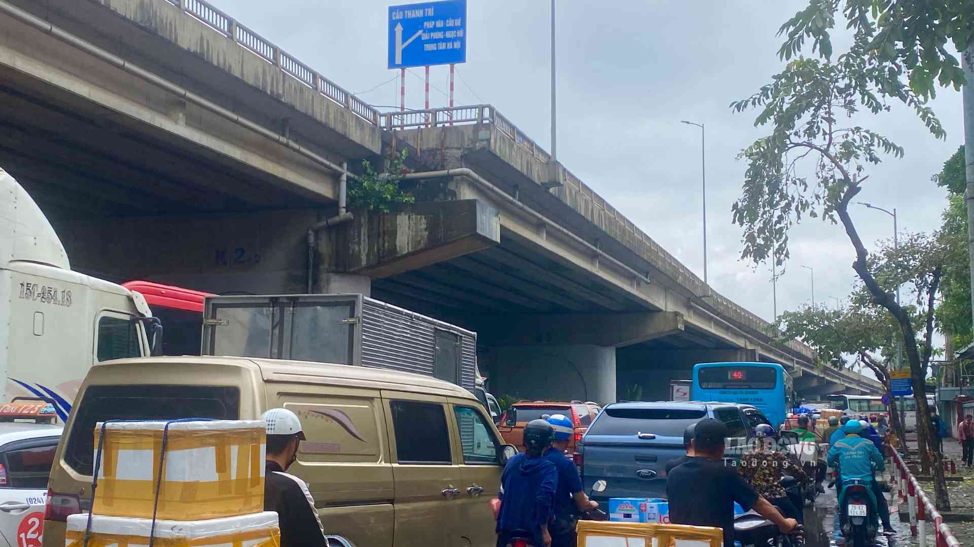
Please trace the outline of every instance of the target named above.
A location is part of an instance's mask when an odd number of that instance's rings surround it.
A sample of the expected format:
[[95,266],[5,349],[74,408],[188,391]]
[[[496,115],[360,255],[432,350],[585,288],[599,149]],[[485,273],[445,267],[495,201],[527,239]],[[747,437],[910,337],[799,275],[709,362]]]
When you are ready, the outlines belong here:
[[0,403],[45,397],[64,420],[88,369],[150,354],[150,332],[142,295],[72,272],[47,217],[0,168]]

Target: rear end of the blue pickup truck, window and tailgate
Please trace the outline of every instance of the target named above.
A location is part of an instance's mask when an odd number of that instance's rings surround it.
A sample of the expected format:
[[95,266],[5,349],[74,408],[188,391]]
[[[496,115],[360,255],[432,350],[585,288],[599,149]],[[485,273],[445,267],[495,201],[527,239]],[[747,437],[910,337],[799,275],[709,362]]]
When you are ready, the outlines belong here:
[[703,418],[702,409],[605,409],[581,443],[586,490],[605,480],[596,499],[666,497],[666,463],[686,454],[683,431]]

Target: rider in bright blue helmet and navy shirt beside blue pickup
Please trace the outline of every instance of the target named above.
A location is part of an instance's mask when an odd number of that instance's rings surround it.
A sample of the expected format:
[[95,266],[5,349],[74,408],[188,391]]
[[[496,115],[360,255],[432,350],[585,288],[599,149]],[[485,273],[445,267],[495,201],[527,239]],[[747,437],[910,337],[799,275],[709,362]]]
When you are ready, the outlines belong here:
[[588,499],[581,486],[579,468],[571,457],[565,456],[568,443],[575,434],[575,425],[563,414],[554,414],[545,419],[554,430],[551,447],[544,452],[544,458],[558,470],[558,485],[554,491],[554,506],[548,532],[551,534],[551,547],[575,547],[578,534],[575,524],[579,516],[599,506]]

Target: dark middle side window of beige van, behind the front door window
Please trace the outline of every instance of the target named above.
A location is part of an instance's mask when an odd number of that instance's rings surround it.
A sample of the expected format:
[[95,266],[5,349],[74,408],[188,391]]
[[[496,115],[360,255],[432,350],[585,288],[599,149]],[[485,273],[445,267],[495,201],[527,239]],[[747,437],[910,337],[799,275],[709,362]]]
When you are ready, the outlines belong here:
[[391,401],[399,463],[453,463],[443,405]]

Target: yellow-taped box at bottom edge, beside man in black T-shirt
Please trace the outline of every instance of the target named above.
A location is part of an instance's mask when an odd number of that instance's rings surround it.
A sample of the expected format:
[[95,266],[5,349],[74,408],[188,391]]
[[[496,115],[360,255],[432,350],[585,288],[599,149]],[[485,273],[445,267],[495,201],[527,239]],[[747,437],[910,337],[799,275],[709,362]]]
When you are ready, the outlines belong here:
[[724,530],[686,525],[579,521],[578,547],[723,547]]

